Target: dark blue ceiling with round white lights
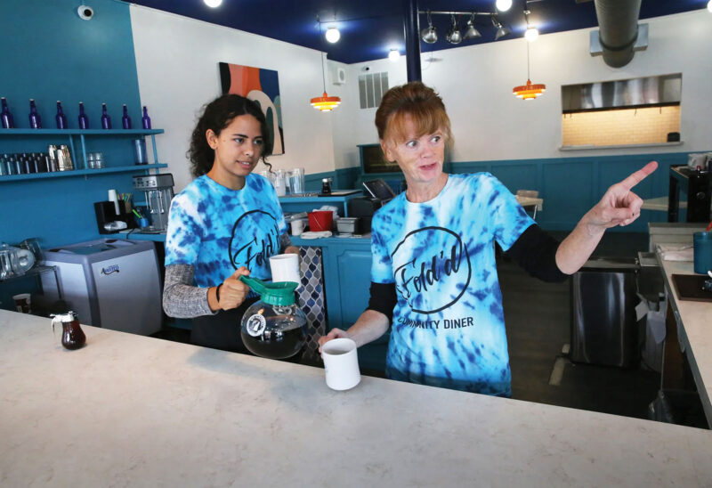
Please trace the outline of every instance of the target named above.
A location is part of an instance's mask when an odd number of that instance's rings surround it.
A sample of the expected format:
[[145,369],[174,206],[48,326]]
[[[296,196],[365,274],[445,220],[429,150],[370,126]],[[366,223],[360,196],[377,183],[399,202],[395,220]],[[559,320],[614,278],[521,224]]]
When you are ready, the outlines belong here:
[[[217,8],[206,6],[203,0],[132,0],[131,3],[317,49],[327,52],[330,60],[349,64],[384,59],[393,48],[405,54],[403,0],[223,0]],[[640,19],[699,10],[707,3],[708,0],[643,0]],[[499,20],[512,29],[512,34],[500,41],[522,37],[526,28],[524,5],[524,0],[514,0],[509,11],[498,13]],[[541,34],[598,25],[593,1],[530,0],[528,7],[530,23]],[[419,0],[418,10],[497,12],[495,0]],[[496,28],[489,17],[475,18],[475,27],[482,37],[464,40],[459,45],[445,40],[449,16],[433,15],[432,19],[438,41],[432,45],[421,41],[424,53],[497,42]],[[460,28],[468,19],[469,16],[457,18]],[[425,15],[420,15],[419,20],[421,29],[427,26]],[[336,44],[329,44],[323,37],[323,32],[332,25],[341,31]]]

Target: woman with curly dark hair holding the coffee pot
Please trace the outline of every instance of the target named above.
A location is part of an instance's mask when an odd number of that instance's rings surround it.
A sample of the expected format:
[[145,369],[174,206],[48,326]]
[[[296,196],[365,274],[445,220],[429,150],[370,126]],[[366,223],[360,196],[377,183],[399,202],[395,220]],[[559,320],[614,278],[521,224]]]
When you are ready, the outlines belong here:
[[199,346],[247,353],[239,321],[257,297],[239,276],[270,280],[270,256],[299,252],[273,186],[252,174],[271,147],[262,110],[236,94],[208,103],[193,130],[196,179],[171,202],[163,307],[193,319]]

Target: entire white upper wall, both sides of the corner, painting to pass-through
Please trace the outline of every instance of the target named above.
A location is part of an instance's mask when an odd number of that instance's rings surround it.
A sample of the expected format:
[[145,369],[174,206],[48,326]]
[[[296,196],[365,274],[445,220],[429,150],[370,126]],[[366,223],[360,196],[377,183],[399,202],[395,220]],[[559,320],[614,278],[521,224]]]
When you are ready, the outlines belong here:
[[[279,72],[286,154],[274,156],[277,168],[304,167],[307,174],[359,165],[357,144],[377,142],[376,109],[360,110],[358,76],[387,70],[391,86],[406,83],[405,56],[329,68],[347,71],[344,85],[327,77],[328,94],[342,104],[320,113],[309,99],[322,91],[320,53],[231,28],[132,5],[134,49],[142,103],[149,106],[159,135],[158,153],[174,174],[176,191],[191,176],[185,151],[199,108],[220,94],[218,62]],[[515,38],[423,53],[423,81],[443,97],[452,121],[453,161],[538,159],[712,149],[712,15],[706,10],[643,20],[649,46],[622,69],[588,53],[592,29],[540,36],[531,45],[531,79],[545,83],[534,102],[512,95],[526,81],[526,41]],[[430,46],[428,46],[430,47]],[[670,148],[559,150],[561,86],[665,73],[683,73],[681,134],[684,144]],[[258,170],[261,168],[258,168]]]

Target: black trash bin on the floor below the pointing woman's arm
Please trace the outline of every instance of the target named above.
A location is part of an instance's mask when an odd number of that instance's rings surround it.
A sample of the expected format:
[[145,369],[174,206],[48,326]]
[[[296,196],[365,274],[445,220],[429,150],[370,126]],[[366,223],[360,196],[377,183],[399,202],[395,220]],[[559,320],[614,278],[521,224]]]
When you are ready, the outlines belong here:
[[571,280],[572,362],[629,368],[640,362],[635,257],[590,259]]

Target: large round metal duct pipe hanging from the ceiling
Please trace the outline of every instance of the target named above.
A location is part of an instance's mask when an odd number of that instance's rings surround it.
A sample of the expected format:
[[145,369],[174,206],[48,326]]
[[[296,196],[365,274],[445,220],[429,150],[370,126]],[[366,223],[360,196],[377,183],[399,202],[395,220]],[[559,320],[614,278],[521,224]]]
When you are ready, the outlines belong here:
[[612,68],[633,59],[641,0],[595,0],[603,61]]

